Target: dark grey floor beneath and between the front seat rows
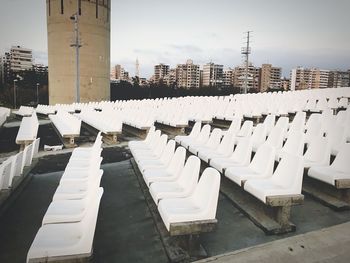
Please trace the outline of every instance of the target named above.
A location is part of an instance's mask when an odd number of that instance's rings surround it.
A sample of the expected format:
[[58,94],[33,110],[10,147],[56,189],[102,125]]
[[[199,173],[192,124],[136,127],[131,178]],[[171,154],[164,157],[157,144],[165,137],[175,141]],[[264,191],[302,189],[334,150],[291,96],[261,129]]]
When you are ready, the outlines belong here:
[[[94,239],[93,262],[167,262],[160,236],[125,148],[106,148],[101,199]],[[24,262],[41,220],[57,188],[69,154],[40,158],[32,179],[8,210],[0,215],[0,262]],[[209,256],[244,249],[350,221],[350,211],[334,212],[306,197],[293,208],[297,231],[267,236],[223,195],[217,209],[218,227],[201,243]],[[230,261],[227,261],[230,262]],[[341,261],[338,261],[341,262]]]

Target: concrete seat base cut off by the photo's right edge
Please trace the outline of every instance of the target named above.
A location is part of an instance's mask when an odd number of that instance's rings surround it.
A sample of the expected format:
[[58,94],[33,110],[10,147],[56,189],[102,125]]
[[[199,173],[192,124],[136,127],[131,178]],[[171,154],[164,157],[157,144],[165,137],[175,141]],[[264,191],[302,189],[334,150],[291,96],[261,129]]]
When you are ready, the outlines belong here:
[[335,186],[304,176],[303,192],[335,211],[350,210],[350,180],[336,180]]

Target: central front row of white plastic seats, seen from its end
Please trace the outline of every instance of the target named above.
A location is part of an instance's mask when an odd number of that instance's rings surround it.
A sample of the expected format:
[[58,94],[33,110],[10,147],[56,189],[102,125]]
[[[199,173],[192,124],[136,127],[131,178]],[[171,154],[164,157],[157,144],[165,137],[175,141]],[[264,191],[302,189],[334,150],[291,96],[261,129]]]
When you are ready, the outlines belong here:
[[173,223],[215,219],[220,175],[207,168],[199,178],[200,160],[175,141],[167,142],[152,127],[144,141],[130,141],[129,148],[149,187],[168,231]]

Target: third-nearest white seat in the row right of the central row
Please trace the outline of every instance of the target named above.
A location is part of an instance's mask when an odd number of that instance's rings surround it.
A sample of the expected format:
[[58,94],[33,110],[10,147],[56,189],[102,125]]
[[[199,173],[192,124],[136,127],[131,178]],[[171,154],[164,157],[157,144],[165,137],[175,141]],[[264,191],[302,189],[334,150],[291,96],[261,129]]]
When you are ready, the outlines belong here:
[[246,166],[250,163],[253,143],[250,138],[241,139],[234,152],[227,158],[213,158],[210,160],[210,166],[214,167],[221,173],[232,166]]

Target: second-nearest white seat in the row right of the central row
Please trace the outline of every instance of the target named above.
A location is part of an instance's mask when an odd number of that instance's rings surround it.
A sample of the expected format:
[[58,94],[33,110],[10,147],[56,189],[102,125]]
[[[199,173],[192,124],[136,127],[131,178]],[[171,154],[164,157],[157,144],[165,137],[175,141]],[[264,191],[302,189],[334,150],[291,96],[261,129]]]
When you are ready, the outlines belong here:
[[273,173],[275,154],[276,150],[273,147],[263,144],[248,166],[229,167],[225,176],[239,186],[248,179],[270,177]]

